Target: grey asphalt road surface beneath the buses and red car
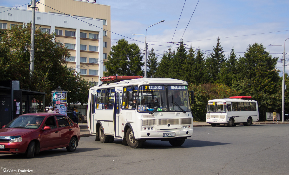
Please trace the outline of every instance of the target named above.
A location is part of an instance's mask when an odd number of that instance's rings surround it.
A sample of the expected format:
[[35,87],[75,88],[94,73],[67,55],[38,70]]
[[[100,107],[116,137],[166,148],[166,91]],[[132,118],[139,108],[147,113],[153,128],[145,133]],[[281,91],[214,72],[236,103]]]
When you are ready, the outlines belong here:
[[[115,139],[95,142],[82,137],[75,152],[65,148],[26,155],[0,154],[3,169],[33,170],[20,174],[288,174],[289,125],[195,127],[181,147],[147,140],[131,149]],[[19,175],[20,175],[19,174]],[[16,174],[17,175],[17,174]]]

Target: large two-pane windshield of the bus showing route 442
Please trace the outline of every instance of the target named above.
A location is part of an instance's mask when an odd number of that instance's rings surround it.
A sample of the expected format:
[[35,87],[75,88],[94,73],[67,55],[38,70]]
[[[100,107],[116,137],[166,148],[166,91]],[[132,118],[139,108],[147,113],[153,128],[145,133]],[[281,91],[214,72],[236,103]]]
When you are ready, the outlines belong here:
[[138,94],[139,112],[190,111],[188,86],[143,85]]

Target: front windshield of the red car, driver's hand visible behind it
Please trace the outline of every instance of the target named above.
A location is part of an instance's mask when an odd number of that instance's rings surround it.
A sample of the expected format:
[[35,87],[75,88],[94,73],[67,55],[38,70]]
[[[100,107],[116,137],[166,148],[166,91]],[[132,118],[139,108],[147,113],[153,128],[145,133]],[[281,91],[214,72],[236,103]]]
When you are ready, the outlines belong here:
[[37,129],[42,121],[44,116],[39,115],[20,115],[14,120],[10,121],[5,128],[28,128],[28,129]]

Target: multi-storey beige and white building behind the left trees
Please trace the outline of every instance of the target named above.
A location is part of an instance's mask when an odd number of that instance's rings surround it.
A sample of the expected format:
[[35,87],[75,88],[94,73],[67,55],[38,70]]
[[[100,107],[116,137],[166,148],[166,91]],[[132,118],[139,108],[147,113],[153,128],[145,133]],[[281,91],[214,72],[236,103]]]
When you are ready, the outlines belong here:
[[[28,10],[0,7],[0,12],[0,30],[32,20],[31,5]],[[36,3],[35,26],[55,32],[56,41],[70,49],[67,66],[91,84],[99,84],[111,47],[109,5],[94,0],[42,0]]]

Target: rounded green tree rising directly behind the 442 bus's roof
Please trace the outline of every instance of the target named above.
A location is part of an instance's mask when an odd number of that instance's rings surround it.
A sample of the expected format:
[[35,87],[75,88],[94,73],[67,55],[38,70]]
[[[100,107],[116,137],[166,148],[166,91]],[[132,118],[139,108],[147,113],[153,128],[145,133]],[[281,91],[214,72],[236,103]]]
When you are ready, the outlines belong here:
[[104,62],[108,72],[104,72],[103,75],[143,75],[142,57],[138,45],[120,39],[111,47],[108,61]]

